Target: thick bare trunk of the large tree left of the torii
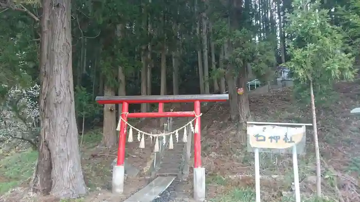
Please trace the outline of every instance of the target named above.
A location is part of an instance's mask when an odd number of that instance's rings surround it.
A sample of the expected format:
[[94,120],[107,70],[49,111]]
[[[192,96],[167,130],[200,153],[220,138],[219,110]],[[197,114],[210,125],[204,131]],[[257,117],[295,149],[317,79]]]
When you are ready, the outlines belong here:
[[42,2],[41,132],[34,189],[58,197],[86,194],[75,117],[70,3]]

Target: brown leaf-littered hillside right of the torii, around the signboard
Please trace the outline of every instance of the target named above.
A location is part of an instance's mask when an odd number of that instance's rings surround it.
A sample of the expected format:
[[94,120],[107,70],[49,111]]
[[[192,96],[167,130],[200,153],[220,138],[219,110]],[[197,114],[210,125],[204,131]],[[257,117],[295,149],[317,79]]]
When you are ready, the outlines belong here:
[[[335,89],[338,97],[329,97],[329,101],[336,100],[337,102],[317,106],[316,110],[322,157],[322,191],[329,201],[346,201],[347,199],[358,201],[360,200],[357,194],[360,171],[358,163],[360,161],[358,158],[360,120],[351,115],[350,110],[359,105],[357,95],[360,88],[355,82],[339,83]],[[254,93],[250,97],[250,110],[254,121],[312,123],[310,106],[299,107],[296,104],[291,89],[277,90],[269,94]],[[206,114],[208,127],[205,128],[203,148],[206,152],[206,162],[210,162],[207,165],[208,173],[213,174],[215,178],[211,187],[217,190],[217,194],[219,190],[224,189],[224,192],[228,193],[225,190],[232,189],[230,193],[233,192],[232,196],[235,196],[237,191],[232,188],[234,184],[240,185],[246,191],[249,187],[255,186],[254,155],[239,148],[238,140],[235,138],[236,126],[224,121],[227,116],[228,105],[226,104],[217,105]],[[316,191],[315,150],[312,127],[307,127],[307,129],[307,151],[299,157],[299,173],[301,192],[304,198],[311,200]],[[261,189],[263,196],[266,197],[263,200],[279,201],[279,198],[282,198],[283,201],[289,201],[286,197],[293,194],[291,155],[261,154],[260,161],[260,172],[264,178],[261,180]],[[219,175],[232,179],[221,178],[226,183],[221,182],[219,185]],[[250,192],[253,193],[254,189],[250,189]],[[340,196],[344,199],[338,200]],[[233,198],[235,199],[251,201],[240,199],[240,197]]]

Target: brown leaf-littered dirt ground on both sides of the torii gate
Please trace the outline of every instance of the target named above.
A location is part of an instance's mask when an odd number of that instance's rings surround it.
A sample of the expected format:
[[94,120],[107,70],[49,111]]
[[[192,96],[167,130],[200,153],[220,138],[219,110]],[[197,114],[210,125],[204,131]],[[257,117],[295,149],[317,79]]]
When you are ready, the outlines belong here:
[[[360,86],[358,82],[339,83],[335,90],[337,97],[329,98],[331,104],[317,106],[323,201],[360,201],[360,120],[350,114],[351,109],[360,105]],[[297,105],[289,88],[273,90],[267,94],[254,93],[249,99],[254,121],[311,123],[310,106]],[[176,105],[173,108],[174,111],[180,108],[192,110],[191,105]],[[242,139],[237,139],[237,123],[230,122],[228,108],[226,103],[215,104],[202,116],[202,161],[206,168],[208,199],[254,201],[254,155],[246,152]],[[137,127],[149,131],[156,125],[157,120],[149,119]],[[141,172],[139,177],[126,180],[123,197],[112,195],[110,165],[116,156],[116,150],[97,148],[99,138],[101,139],[101,131],[92,131],[84,137],[82,165],[89,195],[73,201],[122,201],[149,183],[147,171],[152,160],[152,148],[139,149],[137,142],[127,143],[128,161],[140,168]],[[316,192],[313,142],[312,127],[308,127],[307,151],[299,155],[303,201],[316,201],[313,199]],[[260,161],[262,200],[293,201],[292,157],[285,154],[261,154]],[[192,194],[191,179],[192,173],[181,187],[189,198]],[[0,177],[0,183],[2,180]],[[27,184],[24,183],[20,188],[10,190],[0,201],[60,201],[39,198],[28,193],[26,187]]]

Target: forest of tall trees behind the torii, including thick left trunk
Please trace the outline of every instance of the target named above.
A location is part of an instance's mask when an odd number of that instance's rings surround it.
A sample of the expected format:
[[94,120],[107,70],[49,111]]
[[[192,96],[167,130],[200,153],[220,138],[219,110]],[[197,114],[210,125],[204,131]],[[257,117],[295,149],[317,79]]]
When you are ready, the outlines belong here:
[[40,134],[33,190],[73,197],[86,194],[79,131],[101,122],[117,145],[121,106],[96,96],[228,91],[245,124],[246,82],[272,83],[280,64],[312,97],[353,78],[360,1],[1,0],[0,21],[0,138]]

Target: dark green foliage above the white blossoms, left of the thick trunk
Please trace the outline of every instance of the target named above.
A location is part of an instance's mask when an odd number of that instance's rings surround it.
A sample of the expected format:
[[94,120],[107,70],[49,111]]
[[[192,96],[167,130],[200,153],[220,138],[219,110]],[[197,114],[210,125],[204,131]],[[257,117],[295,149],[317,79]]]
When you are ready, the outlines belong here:
[[33,30],[37,26],[21,12],[1,13],[0,26],[0,96],[13,86],[28,87],[31,71],[37,65],[37,43]]

